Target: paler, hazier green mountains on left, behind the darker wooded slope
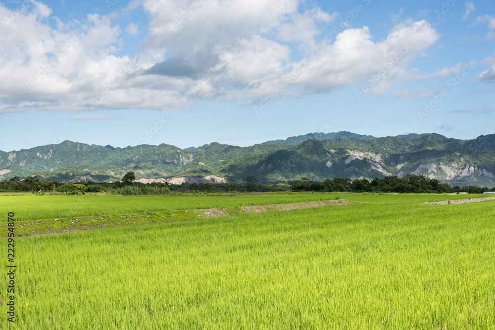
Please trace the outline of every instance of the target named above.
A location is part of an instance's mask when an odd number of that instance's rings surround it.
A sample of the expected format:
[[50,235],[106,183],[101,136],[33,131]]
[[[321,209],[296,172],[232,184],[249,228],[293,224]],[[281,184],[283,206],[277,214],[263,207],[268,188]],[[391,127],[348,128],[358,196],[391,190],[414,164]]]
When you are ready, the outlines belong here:
[[169,144],[128,146],[91,146],[63,141],[19,151],[0,151],[0,180],[38,175],[59,182],[116,181],[133,171],[138,178],[171,177],[191,168],[212,168],[222,161],[260,155],[285,145],[255,144],[240,147],[213,142],[191,151]]

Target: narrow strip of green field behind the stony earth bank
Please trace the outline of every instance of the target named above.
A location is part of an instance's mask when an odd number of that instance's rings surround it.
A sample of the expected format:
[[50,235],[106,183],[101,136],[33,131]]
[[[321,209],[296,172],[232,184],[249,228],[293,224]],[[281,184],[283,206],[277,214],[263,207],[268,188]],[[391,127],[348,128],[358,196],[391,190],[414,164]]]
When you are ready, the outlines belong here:
[[[247,196],[202,195],[202,196],[67,196],[28,195],[0,196],[0,214],[14,212],[19,221],[35,221],[55,218],[77,218],[100,215],[121,215],[155,211],[204,209],[213,207],[240,207],[251,205],[283,204],[305,201],[336,199],[364,203],[421,203],[447,199],[486,197],[486,195],[446,194],[394,194],[372,195],[356,193],[298,193],[262,194]],[[469,196],[469,197],[467,197]]]

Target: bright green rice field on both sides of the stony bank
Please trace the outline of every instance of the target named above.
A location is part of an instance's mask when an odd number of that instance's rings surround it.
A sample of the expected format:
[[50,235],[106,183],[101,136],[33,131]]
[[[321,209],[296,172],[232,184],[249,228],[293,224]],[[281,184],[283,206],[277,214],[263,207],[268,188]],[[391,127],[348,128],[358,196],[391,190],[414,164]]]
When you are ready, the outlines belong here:
[[55,218],[343,198],[352,204],[15,237],[0,329],[494,329],[495,200],[438,194],[0,196]]

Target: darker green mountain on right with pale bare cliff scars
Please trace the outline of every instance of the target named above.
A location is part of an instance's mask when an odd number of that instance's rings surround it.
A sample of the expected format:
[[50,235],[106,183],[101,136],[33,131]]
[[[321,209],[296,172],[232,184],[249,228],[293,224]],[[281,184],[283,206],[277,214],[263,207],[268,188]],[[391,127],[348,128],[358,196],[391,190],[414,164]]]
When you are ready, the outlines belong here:
[[[321,181],[415,174],[452,185],[495,186],[495,135],[471,141],[435,135],[411,141],[383,138],[377,144],[366,141],[368,144],[360,147],[356,147],[356,140],[307,140],[290,148],[232,159],[208,172],[189,170],[180,175],[216,175],[229,182],[242,182],[243,178],[255,175],[260,182],[277,183],[297,180],[301,176]],[[444,144],[439,144],[439,140],[444,140]],[[394,149],[402,151],[395,152]]]

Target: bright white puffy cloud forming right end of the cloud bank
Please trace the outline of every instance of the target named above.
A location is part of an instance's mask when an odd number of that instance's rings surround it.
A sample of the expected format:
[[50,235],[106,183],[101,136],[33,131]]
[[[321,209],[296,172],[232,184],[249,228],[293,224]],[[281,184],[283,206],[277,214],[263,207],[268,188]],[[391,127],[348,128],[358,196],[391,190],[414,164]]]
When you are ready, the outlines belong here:
[[[386,40],[373,42],[368,27],[347,29],[333,44],[311,56],[308,69],[297,79],[303,89],[323,92],[353,84],[383,70],[376,93],[389,86],[386,81],[404,75],[405,67],[440,35],[425,20],[397,24]],[[380,88],[382,88],[380,90]]]

